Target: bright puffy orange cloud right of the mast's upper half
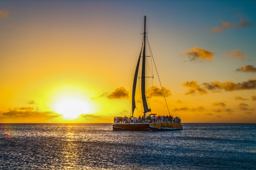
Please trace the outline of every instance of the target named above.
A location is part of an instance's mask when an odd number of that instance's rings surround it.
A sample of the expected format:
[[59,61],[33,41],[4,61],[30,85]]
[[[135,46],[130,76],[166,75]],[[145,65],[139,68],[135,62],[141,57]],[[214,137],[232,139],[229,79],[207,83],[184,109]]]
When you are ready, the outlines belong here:
[[204,60],[212,61],[214,57],[214,53],[206,49],[193,47],[191,50],[186,50],[184,52],[181,52],[179,56],[188,58],[190,61],[204,61]]

